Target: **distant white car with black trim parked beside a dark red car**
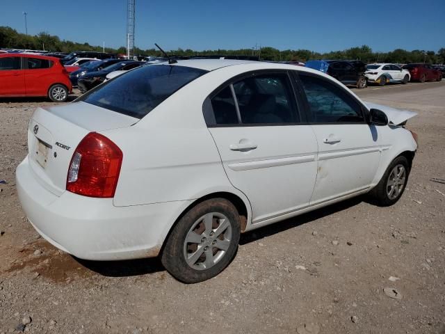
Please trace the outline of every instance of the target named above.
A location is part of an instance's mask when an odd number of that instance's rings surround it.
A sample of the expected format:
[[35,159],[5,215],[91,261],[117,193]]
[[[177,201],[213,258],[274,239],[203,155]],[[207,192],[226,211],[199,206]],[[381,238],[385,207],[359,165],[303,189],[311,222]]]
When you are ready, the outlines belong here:
[[387,63],[374,63],[366,65],[364,73],[368,82],[375,82],[380,86],[385,86],[389,82],[401,82],[407,84],[411,80],[410,71],[404,70],[398,65]]

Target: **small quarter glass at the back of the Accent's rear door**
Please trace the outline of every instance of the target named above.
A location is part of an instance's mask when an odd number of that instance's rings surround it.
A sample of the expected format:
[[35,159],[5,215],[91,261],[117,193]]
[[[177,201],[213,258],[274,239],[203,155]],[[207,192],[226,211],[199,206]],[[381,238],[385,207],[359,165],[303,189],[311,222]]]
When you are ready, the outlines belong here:
[[238,124],[238,113],[232,90],[227,86],[211,99],[216,124]]

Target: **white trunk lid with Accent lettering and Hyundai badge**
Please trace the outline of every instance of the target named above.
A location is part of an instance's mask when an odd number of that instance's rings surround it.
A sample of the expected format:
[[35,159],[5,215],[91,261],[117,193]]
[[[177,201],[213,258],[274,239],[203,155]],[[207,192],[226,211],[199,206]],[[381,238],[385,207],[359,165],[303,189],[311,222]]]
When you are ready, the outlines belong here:
[[72,154],[89,132],[129,127],[138,118],[86,102],[36,109],[28,128],[29,164],[40,184],[60,196]]

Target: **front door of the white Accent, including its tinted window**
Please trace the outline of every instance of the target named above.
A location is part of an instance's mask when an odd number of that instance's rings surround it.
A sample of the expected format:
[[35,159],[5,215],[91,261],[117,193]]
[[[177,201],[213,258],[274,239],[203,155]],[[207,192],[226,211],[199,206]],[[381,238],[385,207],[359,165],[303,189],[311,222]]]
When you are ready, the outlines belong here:
[[318,141],[318,173],[311,204],[368,189],[380,163],[378,129],[346,88],[300,74],[307,113]]

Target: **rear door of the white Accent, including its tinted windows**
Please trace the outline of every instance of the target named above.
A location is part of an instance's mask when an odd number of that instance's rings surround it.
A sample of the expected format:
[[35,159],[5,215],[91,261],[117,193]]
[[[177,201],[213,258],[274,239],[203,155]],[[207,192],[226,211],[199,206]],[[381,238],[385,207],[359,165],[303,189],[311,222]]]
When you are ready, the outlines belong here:
[[254,223],[309,204],[316,138],[302,123],[286,71],[234,79],[206,100],[204,116],[227,177],[251,202]]

